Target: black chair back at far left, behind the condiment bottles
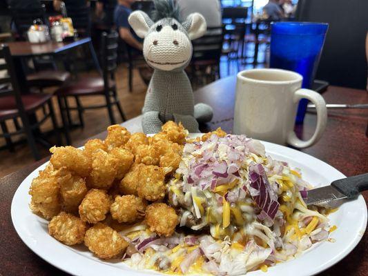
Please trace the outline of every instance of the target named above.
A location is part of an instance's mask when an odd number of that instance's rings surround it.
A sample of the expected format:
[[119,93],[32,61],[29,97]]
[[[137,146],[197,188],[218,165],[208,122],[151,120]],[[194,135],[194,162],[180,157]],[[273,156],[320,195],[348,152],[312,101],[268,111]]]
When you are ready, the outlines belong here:
[[19,39],[26,39],[28,28],[35,19],[41,19],[44,24],[48,25],[43,5],[39,8],[10,8],[10,11]]

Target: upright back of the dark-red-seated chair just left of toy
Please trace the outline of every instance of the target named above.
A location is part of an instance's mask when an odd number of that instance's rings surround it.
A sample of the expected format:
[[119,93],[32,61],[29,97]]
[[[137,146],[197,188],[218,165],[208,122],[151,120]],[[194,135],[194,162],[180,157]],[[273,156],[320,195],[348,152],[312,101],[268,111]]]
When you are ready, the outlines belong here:
[[119,34],[112,30],[109,33],[102,33],[101,58],[102,72],[104,75],[104,85],[108,88],[109,81],[115,80],[115,70],[117,68],[117,47]]

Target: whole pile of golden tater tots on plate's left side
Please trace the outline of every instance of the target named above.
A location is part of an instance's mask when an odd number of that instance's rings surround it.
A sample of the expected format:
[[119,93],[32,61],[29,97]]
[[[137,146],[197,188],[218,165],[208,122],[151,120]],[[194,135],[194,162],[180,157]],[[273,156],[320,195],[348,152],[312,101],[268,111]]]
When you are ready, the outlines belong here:
[[30,186],[30,208],[50,221],[52,237],[84,243],[101,259],[124,255],[122,226],[143,221],[157,235],[171,236],[178,217],[163,199],[187,135],[173,121],[152,137],[115,125],[104,141],[89,140],[84,149],[53,147]]

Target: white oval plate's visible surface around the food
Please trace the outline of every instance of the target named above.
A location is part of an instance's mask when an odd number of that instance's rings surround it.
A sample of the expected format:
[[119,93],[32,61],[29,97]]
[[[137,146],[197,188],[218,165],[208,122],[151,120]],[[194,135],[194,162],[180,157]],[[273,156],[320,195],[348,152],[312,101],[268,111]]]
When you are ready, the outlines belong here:
[[[302,170],[303,178],[313,186],[325,186],[331,181],[344,178],[341,172],[323,161],[303,152],[277,144],[262,142],[267,154],[274,159],[287,161],[291,167]],[[137,271],[122,262],[103,262],[94,257],[84,246],[65,246],[48,235],[48,221],[33,214],[28,206],[28,189],[32,179],[46,164],[39,166],[21,183],[12,200],[12,222],[23,242],[39,257],[53,266],[72,275],[150,275],[153,271]],[[248,273],[251,276],[271,275],[314,275],[333,266],[348,255],[358,244],[367,226],[367,206],[362,195],[354,201],[343,204],[336,213],[329,216],[331,226],[338,228],[330,237],[336,242],[322,242],[313,245],[303,255],[289,262],[269,268],[265,274],[260,270]],[[17,262],[17,260],[14,260]]]

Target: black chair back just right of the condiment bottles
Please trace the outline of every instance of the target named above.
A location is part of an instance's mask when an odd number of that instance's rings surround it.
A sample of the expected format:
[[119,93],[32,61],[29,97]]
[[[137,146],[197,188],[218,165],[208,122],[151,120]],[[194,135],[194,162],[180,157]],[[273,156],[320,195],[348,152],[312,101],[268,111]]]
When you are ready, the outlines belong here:
[[78,32],[79,37],[90,37],[90,7],[68,6],[66,7],[68,17],[72,19],[72,25]]

